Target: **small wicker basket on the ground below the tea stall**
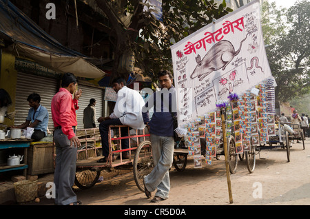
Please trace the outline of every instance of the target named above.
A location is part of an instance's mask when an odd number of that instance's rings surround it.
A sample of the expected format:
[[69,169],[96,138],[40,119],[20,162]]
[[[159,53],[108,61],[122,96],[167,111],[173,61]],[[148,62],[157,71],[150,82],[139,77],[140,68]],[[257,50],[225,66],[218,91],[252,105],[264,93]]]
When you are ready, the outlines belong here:
[[23,180],[14,183],[14,191],[17,202],[29,202],[34,200],[38,193],[38,180]]

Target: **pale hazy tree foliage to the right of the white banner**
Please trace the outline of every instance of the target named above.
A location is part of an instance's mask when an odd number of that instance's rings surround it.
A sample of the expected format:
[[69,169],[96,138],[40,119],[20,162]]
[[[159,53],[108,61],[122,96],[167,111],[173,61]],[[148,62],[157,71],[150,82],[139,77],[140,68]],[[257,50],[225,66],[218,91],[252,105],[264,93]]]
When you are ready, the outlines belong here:
[[276,79],[277,101],[310,92],[310,1],[298,1],[289,10],[262,7],[262,24],[271,72]]

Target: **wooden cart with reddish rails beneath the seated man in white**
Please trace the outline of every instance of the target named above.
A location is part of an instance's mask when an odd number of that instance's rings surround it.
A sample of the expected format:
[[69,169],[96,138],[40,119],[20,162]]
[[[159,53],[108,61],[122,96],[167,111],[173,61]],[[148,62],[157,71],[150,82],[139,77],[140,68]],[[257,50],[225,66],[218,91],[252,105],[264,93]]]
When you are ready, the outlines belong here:
[[[149,134],[145,130],[135,130],[134,135],[130,135],[130,127],[127,127],[129,136],[121,136],[121,128],[126,125],[110,125],[109,130],[109,150],[110,155],[106,163],[97,163],[103,158],[100,156],[101,136],[99,129],[78,129],[77,136],[82,146],[77,152],[75,185],[80,189],[89,189],[99,180],[102,170],[131,168],[133,166],[134,180],[137,187],[144,191],[143,176],[149,174],[153,167],[152,147],[149,141]],[[112,135],[114,133],[114,135]],[[122,149],[121,140],[128,138],[130,146]],[[129,152],[130,158],[122,157],[122,152]],[[113,160],[112,155],[118,156]]]

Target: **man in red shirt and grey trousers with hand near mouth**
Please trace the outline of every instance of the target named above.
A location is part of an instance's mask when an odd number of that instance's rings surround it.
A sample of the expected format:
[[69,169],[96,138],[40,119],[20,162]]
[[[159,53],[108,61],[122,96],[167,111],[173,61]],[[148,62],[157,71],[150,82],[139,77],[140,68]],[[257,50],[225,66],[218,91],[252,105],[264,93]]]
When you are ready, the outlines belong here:
[[[72,73],[63,75],[61,88],[52,98],[52,119],[54,122],[54,143],[56,145],[56,168],[54,183],[56,205],[81,205],[72,190],[76,169],[77,147],[81,146],[75,135],[77,103],[82,90],[77,91],[77,79]],[[74,94],[74,98],[72,98]]]

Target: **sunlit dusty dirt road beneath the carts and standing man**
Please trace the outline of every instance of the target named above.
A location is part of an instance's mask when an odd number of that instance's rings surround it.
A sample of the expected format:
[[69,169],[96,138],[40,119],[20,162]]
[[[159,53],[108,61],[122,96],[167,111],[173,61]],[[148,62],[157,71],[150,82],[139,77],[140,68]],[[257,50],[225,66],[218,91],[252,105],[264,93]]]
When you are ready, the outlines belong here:
[[[92,189],[76,191],[83,205],[309,205],[310,140],[293,144],[291,162],[285,149],[262,150],[256,155],[256,169],[249,174],[245,160],[238,161],[236,174],[231,174],[234,203],[229,204],[225,160],[213,160],[194,169],[188,160],[185,171],[170,171],[169,199],[153,203],[138,190],[132,173],[104,180]],[[41,200],[40,205],[53,205]]]

